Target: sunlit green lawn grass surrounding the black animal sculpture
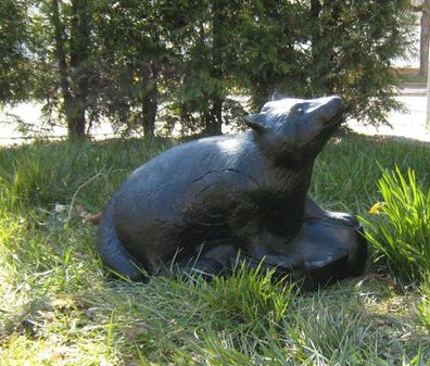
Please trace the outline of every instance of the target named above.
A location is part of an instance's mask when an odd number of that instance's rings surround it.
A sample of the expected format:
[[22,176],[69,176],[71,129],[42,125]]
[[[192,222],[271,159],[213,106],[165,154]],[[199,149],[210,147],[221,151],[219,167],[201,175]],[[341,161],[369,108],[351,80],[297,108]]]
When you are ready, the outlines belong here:
[[[428,285],[400,287],[383,267],[304,294],[241,268],[212,283],[109,279],[81,213],[172,143],[0,149],[1,365],[429,364]],[[429,149],[346,136],[318,159],[312,195],[366,215],[382,200],[376,161],[430,187]]]

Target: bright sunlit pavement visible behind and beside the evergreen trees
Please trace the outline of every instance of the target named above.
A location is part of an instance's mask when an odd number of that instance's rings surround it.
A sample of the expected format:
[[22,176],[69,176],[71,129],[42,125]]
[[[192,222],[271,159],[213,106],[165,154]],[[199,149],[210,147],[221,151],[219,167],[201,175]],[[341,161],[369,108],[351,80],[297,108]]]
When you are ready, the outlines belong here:
[[[401,94],[396,98],[405,104],[408,113],[391,113],[388,119],[393,128],[363,126],[357,121],[350,121],[347,125],[361,134],[393,137],[399,140],[417,140],[426,142],[426,144],[428,142],[430,146],[430,130],[426,129],[426,89],[402,89]],[[4,112],[0,112],[0,146],[23,142],[24,140],[20,139],[22,135],[15,130],[15,125],[1,123],[7,118]],[[37,123],[40,117],[40,110],[34,104],[22,104],[12,112],[27,123]],[[65,134],[65,128],[56,128],[53,132],[54,136],[64,136]],[[99,139],[113,136],[109,124],[102,124],[92,131],[92,135]]]

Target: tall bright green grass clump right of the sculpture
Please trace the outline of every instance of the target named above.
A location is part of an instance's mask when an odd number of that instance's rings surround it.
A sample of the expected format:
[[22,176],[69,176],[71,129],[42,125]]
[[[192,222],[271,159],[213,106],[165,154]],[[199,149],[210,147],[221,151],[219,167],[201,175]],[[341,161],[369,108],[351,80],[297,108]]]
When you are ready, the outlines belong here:
[[383,171],[378,188],[383,201],[369,211],[375,219],[366,222],[376,262],[387,261],[402,279],[420,280],[430,268],[430,189],[426,193],[413,169],[404,176],[397,166]]

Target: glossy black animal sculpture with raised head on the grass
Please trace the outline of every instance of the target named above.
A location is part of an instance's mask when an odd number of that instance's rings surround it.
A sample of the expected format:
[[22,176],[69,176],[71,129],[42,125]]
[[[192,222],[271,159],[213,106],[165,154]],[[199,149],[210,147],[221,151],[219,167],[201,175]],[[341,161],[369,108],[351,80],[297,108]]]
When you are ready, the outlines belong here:
[[245,117],[251,130],[172,148],[136,169],[110,200],[99,250],[141,279],[228,273],[262,264],[314,288],[363,272],[355,216],[307,197],[315,157],[342,122],[339,97],[283,99]]

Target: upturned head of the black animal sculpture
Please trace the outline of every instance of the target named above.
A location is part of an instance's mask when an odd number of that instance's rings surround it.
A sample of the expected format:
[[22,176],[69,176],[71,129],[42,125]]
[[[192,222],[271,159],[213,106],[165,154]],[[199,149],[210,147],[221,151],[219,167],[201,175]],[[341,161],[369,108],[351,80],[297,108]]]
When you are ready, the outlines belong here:
[[245,119],[262,148],[278,163],[312,163],[342,123],[342,99],[270,101]]

